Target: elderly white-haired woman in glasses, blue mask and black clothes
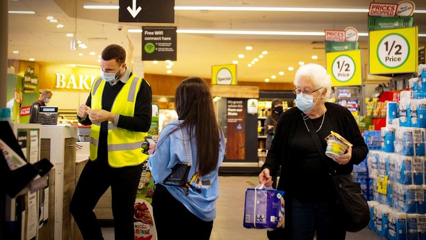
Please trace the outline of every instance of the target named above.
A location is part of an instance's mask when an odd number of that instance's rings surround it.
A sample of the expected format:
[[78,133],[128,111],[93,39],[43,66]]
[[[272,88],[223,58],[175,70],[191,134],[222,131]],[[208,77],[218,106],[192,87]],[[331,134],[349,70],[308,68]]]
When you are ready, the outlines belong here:
[[301,66],[294,84],[297,107],[281,114],[259,182],[271,186],[271,175],[281,166],[277,189],[285,191],[286,199],[286,231],[281,231],[286,236],[281,239],[312,240],[316,235],[317,240],[344,240],[333,182],[309,129],[318,135],[324,152],[331,131],[353,144],[341,156],[326,157],[337,174],[352,172],[353,165],[366,158],[368,148],[350,111],[327,102],[331,79],[324,67]]

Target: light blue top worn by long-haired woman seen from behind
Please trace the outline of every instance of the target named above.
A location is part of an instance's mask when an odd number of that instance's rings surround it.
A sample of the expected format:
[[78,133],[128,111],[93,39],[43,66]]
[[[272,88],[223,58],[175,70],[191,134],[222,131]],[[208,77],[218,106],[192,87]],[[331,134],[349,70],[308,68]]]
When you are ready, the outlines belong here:
[[[154,178],[155,185],[161,184],[171,173],[171,168],[179,161],[188,162],[180,129],[167,136],[171,130],[178,126],[178,120],[174,120],[166,125],[158,139],[154,154],[150,155],[148,158],[148,168],[151,171],[151,177]],[[187,129],[184,129],[184,134],[189,158],[191,159],[191,169],[188,175],[188,181],[190,181],[192,176],[198,171],[195,167],[197,166],[197,139],[194,137],[190,141]],[[201,193],[189,188],[189,194],[185,195],[180,187],[164,185],[171,195],[179,200],[190,212],[204,221],[213,221],[216,217],[216,199],[219,196],[217,171],[223,161],[224,151],[225,139],[220,132],[219,159],[217,161],[217,166],[212,172],[201,178],[202,181],[210,180],[211,182],[210,186],[205,184],[202,185]]]

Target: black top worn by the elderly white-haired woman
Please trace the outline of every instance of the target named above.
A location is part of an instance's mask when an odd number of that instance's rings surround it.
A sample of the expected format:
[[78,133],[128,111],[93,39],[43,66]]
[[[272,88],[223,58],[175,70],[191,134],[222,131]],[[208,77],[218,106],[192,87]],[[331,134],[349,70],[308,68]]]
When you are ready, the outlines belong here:
[[[324,138],[330,131],[340,134],[353,144],[349,163],[339,165],[327,157],[337,170],[337,174],[350,173],[353,164],[359,164],[367,157],[367,145],[349,110],[329,102],[326,102],[325,106],[327,112],[323,126],[317,133],[318,137],[324,151],[326,149]],[[301,113],[297,107],[293,107],[281,114],[262,170],[268,168],[273,175],[281,166],[277,189],[286,191],[286,196],[289,194],[307,202],[331,199],[333,194],[330,175],[312,136],[304,125]],[[321,125],[322,116],[311,121],[317,130]]]

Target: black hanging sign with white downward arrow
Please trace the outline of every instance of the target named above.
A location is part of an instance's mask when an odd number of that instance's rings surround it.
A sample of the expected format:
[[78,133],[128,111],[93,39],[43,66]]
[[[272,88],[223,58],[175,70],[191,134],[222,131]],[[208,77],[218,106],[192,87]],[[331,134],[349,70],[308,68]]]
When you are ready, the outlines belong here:
[[174,23],[174,0],[120,0],[119,22]]

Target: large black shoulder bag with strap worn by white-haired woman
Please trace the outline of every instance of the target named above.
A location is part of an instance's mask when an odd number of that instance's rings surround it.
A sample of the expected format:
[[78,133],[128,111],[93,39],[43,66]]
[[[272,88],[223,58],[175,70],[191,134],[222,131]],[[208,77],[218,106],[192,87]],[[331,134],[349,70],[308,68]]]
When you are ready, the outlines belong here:
[[[303,117],[303,113],[302,113]],[[355,182],[350,173],[336,174],[330,161],[327,160],[325,150],[321,146],[320,140],[309,117],[303,117],[309,127],[309,133],[320,152],[321,158],[329,169],[330,176],[336,190],[338,207],[341,210],[343,226],[347,232],[356,233],[367,227],[370,222],[370,208],[364,193],[361,191],[361,184]]]

